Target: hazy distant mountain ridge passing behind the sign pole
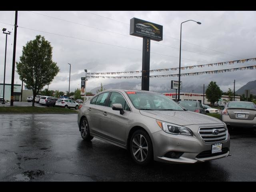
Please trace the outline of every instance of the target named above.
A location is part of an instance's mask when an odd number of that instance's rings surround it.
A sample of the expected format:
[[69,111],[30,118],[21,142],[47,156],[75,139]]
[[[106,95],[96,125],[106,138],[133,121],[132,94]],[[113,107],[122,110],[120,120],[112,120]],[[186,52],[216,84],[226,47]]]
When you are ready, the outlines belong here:
[[[136,89],[136,90],[141,90],[141,84],[140,83],[136,83],[136,82],[120,82],[120,83],[111,83],[111,84],[106,84],[103,85],[103,88],[108,90],[108,89]],[[204,90],[206,90],[207,86],[205,86]],[[100,86],[90,90],[90,92],[92,92],[93,94],[96,94],[96,91],[100,89]],[[174,89],[170,89],[170,87],[168,86],[156,86],[156,85],[152,85],[150,84],[150,91],[154,91],[154,92],[159,92],[159,93],[166,93],[166,92],[175,92]],[[192,85],[192,86],[185,86],[182,87],[182,90],[180,90],[180,92],[193,92],[194,93],[203,93],[203,86],[196,86],[196,85]],[[178,92],[178,90],[177,90]]]

